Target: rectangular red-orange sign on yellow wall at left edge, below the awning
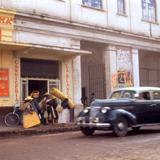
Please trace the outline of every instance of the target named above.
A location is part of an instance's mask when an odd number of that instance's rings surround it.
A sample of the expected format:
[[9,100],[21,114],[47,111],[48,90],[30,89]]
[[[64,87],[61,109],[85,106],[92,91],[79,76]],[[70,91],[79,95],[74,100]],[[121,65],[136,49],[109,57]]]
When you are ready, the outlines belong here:
[[0,69],[0,97],[9,96],[8,69]]

